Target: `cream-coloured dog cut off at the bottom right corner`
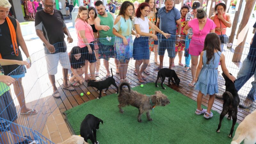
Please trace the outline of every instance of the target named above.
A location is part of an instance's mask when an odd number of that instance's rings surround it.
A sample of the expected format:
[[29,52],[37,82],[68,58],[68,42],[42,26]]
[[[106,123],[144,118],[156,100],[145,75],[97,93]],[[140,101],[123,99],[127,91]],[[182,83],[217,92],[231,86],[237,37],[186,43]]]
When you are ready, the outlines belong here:
[[239,144],[243,140],[244,144],[256,143],[256,110],[246,116],[238,125],[231,144]]

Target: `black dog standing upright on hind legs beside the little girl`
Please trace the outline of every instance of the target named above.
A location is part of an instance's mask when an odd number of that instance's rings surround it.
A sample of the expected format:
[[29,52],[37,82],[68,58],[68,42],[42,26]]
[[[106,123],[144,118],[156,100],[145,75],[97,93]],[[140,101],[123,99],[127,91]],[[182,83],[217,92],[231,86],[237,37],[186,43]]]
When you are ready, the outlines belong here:
[[[230,74],[230,73],[229,73]],[[232,74],[230,74],[232,75]],[[232,127],[228,135],[229,138],[232,138],[234,126],[237,120],[237,107],[240,103],[240,99],[235,87],[235,82],[233,83],[225,74],[222,73],[222,76],[225,79],[226,92],[223,93],[223,109],[220,114],[220,123],[216,132],[220,132],[221,122],[224,116],[228,113],[228,120],[233,119]]]

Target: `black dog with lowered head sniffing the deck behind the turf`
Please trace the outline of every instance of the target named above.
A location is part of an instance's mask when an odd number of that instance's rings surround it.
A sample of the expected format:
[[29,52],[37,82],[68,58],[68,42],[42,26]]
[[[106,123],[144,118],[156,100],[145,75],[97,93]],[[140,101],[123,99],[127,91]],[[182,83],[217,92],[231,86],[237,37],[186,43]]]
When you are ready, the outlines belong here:
[[[172,70],[172,69],[169,69],[169,68],[162,68],[162,69],[160,69],[160,70],[158,71],[158,73],[157,73],[157,78],[156,78],[156,87],[158,87],[157,81],[158,81],[158,79],[159,79],[160,77],[161,77],[161,79],[162,79],[161,86],[162,86],[163,89],[165,89],[165,87],[163,86],[165,77],[169,77],[169,79],[168,79],[168,84],[170,84],[170,81],[172,80],[172,83],[173,83],[173,84],[180,85],[180,79],[178,78],[176,72],[175,72],[174,70]],[[173,81],[172,78],[174,79],[175,83],[174,83],[174,81]]]

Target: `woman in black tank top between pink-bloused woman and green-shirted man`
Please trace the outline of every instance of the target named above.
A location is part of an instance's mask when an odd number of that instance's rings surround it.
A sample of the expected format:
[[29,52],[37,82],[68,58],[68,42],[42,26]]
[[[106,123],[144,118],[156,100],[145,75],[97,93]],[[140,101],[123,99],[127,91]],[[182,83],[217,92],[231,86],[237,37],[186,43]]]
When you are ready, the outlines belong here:
[[[90,24],[90,26],[92,26],[92,31],[93,31],[94,38],[98,38],[98,30],[95,28],[95,25],[94,25],[95,18],[97,18],[96,10],[95,10],[94,7],[90,6],[88,8],[88,23]],[[97,39],[96,39],[96,42],[97,42]],[[98,49],[95,49],[95,47],[97,47],[97,46],[98,45],[95,44],[95,42],[94,42],[94,53],[95,53],[95,57],[96,57],[96,60],[97,60],[95,76],[100,76],[99,51],[98,51]]]

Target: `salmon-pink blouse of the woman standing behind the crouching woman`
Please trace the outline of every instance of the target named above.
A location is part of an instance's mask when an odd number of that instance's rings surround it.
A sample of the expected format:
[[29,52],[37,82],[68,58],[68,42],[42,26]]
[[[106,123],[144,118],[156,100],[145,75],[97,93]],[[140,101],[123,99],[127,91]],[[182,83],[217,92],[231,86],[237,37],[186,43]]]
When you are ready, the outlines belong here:
[[87,38],[88,43],[92,43],[94,41],[92,27],[87,22],[85,22],[81,19],[77,19],[76,23],[75,23],[75,29],[76,29],[76,35],[78,38],[77,45],[80,48],[85,47],[85,44],[84,44],[82,38],[80,37],[78,31],[80,31],[80,30],[85,31],[85,37]]

